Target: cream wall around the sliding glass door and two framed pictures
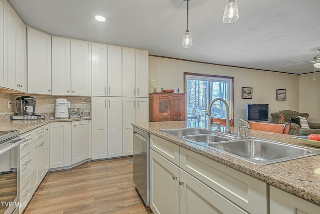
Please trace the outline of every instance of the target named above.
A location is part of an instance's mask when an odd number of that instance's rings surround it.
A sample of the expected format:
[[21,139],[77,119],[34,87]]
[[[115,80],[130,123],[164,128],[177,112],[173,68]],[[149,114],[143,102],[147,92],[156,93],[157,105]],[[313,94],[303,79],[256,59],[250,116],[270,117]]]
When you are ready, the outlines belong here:
[[[234,77],[235,125],[245,118],[246,103],[268,103],[270,113],[280,110],[299,110],[299,75],[257,71],[227,66],[217,66],[182,60],[149,56],[149,75],[154,74],[158,82],[157,91],[180,89],[183,92],[183,72]],[[319,77],[320,79],[320,77]],[[252,99],[241,99],[241,87],[252,88]],[[319,86],[320,87],[320,86]],[[286,100],[275,100],[275,89],[286,89]],[[150,88],[151,92],[151,88]]]

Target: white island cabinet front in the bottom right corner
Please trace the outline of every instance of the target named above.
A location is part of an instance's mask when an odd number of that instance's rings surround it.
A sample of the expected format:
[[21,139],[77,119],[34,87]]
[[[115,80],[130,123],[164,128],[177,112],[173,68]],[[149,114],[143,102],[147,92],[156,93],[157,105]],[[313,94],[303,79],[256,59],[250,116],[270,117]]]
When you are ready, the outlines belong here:
[[270,214],[320,213],[320,206],[270,186]]

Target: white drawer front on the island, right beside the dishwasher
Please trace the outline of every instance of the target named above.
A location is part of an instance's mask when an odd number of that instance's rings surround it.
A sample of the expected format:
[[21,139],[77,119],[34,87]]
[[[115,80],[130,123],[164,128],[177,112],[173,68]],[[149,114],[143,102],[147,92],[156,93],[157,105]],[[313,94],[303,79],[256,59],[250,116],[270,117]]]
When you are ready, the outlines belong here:
[[170,160],[172,163],[176,165],[180,164],[180,146],[152,134],[150,134],[149,137],[149,144],[150,148],[152,148],[157,153],[161,154],[166,159]]

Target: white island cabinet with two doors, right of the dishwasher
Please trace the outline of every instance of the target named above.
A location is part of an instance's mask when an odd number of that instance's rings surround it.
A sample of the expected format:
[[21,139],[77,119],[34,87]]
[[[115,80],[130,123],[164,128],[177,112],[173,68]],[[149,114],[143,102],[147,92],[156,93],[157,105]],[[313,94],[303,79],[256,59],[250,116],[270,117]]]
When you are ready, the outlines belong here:
[[152,134],[149,143],[154,213],[268,213],[266,183]]

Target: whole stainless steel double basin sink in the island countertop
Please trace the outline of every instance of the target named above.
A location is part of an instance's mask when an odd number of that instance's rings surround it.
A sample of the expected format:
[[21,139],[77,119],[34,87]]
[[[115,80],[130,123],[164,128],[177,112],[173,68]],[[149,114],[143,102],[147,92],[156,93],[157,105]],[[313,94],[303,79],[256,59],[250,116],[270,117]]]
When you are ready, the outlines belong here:
[[236,140],[232,134],[224,134],[204,128],[161,129],[159,131],[258,165],[267,165],[320,154],[318,149],[264,139],[248,138]]

